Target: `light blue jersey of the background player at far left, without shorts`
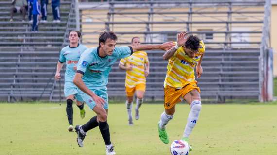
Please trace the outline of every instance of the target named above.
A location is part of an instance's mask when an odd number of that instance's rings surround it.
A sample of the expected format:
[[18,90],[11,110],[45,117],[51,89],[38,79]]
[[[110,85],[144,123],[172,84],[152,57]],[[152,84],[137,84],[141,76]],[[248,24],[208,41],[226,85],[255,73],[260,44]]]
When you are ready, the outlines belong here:
[[67,68],[65,73],[65,82],[72,82],[76,70],[73,69],[77,66],[81,54],[87,49],[86,46],[78,44],[77,47],[64,47],[60,52],[59,62],[66,62]]

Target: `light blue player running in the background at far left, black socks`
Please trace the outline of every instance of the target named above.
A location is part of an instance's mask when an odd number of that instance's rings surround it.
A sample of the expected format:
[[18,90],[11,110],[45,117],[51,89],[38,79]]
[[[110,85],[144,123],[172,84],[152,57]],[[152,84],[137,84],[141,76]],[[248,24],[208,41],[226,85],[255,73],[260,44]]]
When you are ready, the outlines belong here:
[[69,43],[70,45],[64,47],[60,52],[60,58],[57,63],[57,71],[55,75],[55,79],[60,79],[60,71],[63,67],[64,62],[67,64],[66,73],[65,73],[65,85],[64,85],[64,93],[67,101],[67,116],[69,121],[69,131],[73,131],[73,100],[74,96],[76,98],[76,104],[80,109],[81,118],[85,117],[85,109],[84,109],[84,101],[80,95],[83,93],[80,89],[74,85],[73,78],[76,72],[76,65],[81,54],[87,49],[86,46],[79,44],[79,40],[81,38],[81,32],[79,31],[69,31]]

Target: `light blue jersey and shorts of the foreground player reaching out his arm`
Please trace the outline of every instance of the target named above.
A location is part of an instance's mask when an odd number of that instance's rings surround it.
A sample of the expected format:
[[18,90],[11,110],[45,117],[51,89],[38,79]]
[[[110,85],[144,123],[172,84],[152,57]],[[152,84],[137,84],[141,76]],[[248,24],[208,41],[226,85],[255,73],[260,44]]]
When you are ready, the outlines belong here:
[[[77,65],[77,72],[84,75],[82,79],[87,88],[106,101],[103,106],[104,109],[108,109],[107,84],[112,65],[118,59],[126,58],[132,54],[132,47],[115,47],[112,55],[100,57],[99,47],[94,47],[87,49],[81,55]],[[83,93],[82,98],[90,109],[96,106],[93,99],[86,93]]]

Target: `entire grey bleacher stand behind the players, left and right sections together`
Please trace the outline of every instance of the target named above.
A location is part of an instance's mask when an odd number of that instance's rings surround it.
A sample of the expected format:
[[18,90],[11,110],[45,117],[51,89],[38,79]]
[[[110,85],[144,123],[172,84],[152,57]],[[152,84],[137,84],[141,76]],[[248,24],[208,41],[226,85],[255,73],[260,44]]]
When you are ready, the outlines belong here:
[[[8,0],[1,5],[8,7]],[[266,13],[264,6],[265,0],[80,0],[76,4],[75,0],[64,0],[62,22],[42,23],[37,33],[30,32],[27,22],[8,22],[8,16],[0,22],[0,99],[64,99],[64,80],[54,81],[58,51],[67,45],[67,32],[80,23],[76,28],[81,28],[82,44],[88,47],[98,46],[103,30],[115,31],[119,45],[129,45],[133,36],[142,38],[143,44],[175,41],[178,32],[189,31],[206,44],[204,72],[197,79],[203,100],[262,101],[269,47],[265,40],[270,37],[266,33],[270,10]],[[0,10],[4,13],[7,10]],[[148,52],[151,67],[146,100],[163,100],[167,61],[162,60],[162,54]],[[124,79],[125,72],[117,62],[108,84],[112,99],[125,98]]]

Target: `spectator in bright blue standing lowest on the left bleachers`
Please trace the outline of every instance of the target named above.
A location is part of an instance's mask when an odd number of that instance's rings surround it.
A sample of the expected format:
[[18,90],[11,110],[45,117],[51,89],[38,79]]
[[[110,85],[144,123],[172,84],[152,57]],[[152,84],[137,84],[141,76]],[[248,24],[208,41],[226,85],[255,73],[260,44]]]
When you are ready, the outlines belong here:
[[37,0],[33,1],[33,25],[32,25],[32,31],[38,31],[38,18],[41,16],[40,12],[40,5]]

